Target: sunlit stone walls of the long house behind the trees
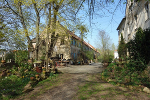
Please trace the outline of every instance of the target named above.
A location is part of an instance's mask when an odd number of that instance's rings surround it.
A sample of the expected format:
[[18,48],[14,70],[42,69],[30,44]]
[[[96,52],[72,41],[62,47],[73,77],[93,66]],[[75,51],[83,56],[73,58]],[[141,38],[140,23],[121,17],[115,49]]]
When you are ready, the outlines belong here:
[[[40,45],[39,45],[39,59],[42,58],[43,54],[46,54],[46,29],[40,34]],[[52,57],[63,55],[62,59],[81,60],[81,39],[73,33],[70,33],[66,28],[57,23],[56,34],[59,34],[56,45],[53,50]],[[49,34],[49,42],[51,41],[51,33]],[[33,47],[35,48],[36,42],[34,41]],[[83,50],[93,50],[83,43]],[[93,50],[94,51],[94,50]],[[96,54],[96,53],[95,53]],[[35,58],[35,51],[30,52],[30,56]]]

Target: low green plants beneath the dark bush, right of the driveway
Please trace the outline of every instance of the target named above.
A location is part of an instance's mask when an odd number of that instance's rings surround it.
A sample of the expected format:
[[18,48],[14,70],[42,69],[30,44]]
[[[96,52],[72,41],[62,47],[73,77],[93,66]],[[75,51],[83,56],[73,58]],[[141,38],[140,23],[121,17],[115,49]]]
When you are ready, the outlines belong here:
[[[125,85],[150,85],[148,74],[143,70],[145,65],[142,61],[130,61],[125,63],[124,67],[121,64],[111,63],[102,72],[103,79],[114,79],[115,83],[125,84]],[[112,81],[111,81],[112,83]]]

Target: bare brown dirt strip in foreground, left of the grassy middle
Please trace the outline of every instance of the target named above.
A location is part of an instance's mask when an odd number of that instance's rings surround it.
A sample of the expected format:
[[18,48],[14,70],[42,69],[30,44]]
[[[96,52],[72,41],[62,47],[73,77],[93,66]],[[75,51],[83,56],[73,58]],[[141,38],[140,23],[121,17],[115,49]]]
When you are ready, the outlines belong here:
[[[67,75],[70,76],[70,74]],[[73,74],[70,80],[36,97],[36,100],[72,100],[77,95],[79,86],[84,84],[85,79],[86,74]]]

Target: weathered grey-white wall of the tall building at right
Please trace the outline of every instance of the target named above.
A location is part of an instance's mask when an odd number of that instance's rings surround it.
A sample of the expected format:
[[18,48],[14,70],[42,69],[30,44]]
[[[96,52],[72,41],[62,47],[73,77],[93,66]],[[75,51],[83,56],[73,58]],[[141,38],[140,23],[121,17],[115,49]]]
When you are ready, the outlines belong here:
[[[124,27],[123,37],[125,42],[134,38],[137,28],[150,28],[150,2],[146,0],[136,1],[127,0],[126,20],[125,24],[122,25]],[[119,33],[122,31],[122,27],[119,27]],[[118,37],[120,38],[119,33]]]

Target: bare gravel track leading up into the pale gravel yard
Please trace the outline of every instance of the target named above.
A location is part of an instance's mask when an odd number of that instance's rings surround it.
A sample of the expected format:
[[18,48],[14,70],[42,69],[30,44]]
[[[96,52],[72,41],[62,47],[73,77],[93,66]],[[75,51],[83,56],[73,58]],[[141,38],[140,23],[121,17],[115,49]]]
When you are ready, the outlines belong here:
[[101,63],[91,65],[69,65],[68,67],[58,68],[59,71],[72,77],[59,87],[48,90],[37,100],[72,100],[75,99],[79,86],[85,84],[89,74],[101,73],[104,68]]

